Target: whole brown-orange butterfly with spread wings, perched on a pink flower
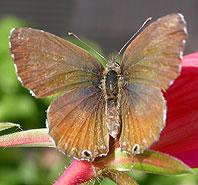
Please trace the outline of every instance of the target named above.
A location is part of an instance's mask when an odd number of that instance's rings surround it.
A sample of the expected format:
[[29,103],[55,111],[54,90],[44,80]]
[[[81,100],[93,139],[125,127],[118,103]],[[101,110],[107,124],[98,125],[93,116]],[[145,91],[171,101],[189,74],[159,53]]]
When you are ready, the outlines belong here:
[[109,152],[110,138],[122,152],[142,153],[165,126],[166,91],[181,70],[187,39],[181,14],[145,28],[121,61],[106,67],[93,55],[53,34],[15,28],[10,52],[22,85],[36,97],[63,92],[47,111],[56,147],[75,159],[93,161]]

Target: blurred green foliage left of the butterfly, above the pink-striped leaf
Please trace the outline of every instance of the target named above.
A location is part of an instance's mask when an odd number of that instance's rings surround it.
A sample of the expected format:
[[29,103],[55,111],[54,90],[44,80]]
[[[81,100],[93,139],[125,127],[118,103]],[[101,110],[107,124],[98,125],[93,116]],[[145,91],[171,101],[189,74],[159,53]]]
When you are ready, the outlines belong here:
[[44,127],[47,104],[31,97],[22,87],[10,57],[10,30],[24,26],[25,22],[15,17],[0,19],[0,122],[20,123],[24,129],[28,129],[38,128],[40,123]]

